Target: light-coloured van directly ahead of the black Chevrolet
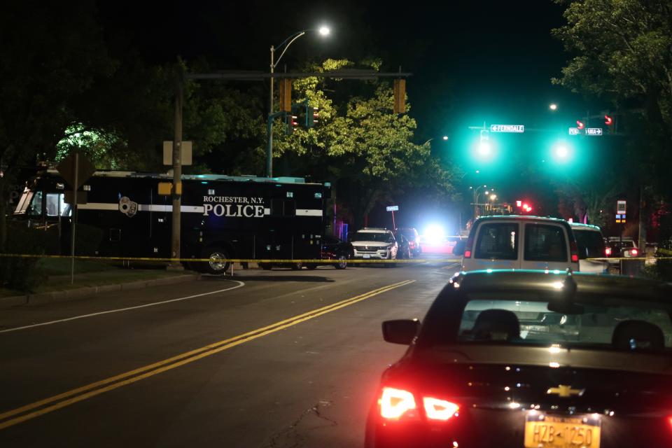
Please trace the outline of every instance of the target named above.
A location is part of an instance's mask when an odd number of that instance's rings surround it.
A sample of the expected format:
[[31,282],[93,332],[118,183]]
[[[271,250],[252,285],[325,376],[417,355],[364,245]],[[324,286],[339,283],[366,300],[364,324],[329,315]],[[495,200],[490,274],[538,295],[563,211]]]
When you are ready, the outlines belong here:
[[579,270],[576,240],[567,221],[538,216],[484,216],[472,225],[462,270]]

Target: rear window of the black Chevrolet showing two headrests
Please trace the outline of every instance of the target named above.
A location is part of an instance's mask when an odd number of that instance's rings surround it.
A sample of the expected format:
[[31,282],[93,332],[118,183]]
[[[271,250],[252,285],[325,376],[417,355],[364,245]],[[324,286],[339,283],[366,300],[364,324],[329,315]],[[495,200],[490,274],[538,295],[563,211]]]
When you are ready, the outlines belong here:
[[602,346],[631,351],[672,347],[670,307],[658,302],[606,298],[577,301],[580,312],[549,311],[539,300],[493,300],[479,295],[465,304],[457,341],[504,344]]

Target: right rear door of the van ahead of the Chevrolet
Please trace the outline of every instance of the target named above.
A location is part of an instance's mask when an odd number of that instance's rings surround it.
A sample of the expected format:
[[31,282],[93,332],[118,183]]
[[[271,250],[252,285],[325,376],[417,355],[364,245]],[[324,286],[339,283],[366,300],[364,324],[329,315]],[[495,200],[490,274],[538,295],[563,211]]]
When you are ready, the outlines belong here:
[[578,269],[571,262],[567,232],[556,223],[525,223],[523,269]]

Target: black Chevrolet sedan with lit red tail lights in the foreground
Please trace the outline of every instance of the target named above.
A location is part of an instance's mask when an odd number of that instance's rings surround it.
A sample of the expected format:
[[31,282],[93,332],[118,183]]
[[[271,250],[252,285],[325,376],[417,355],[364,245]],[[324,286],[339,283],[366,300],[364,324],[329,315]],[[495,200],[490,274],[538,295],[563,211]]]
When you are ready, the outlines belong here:
[[384,372],[367,447],[672,446],[672,285],[559,271],[451,279]]

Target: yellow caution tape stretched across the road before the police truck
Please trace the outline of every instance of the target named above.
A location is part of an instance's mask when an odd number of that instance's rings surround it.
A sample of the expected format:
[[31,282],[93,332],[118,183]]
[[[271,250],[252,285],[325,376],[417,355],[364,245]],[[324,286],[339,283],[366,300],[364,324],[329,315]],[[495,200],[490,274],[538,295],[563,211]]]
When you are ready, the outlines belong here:
[[[31,253],[0,253],[0,257],[5,258],[67,258],[75,260],[109,260],[109,261],[154,261],[154,262],[255,262],[255,263],[340,263],[344,260],[271,260],[257,258],[144,258],[144,257],[103,257],[98,255],[38,255]],[[348,263],[424,263],[424,262],[460,262],[461,258],[442,258],[430,260],[363,260],[360,258],[345,260]]]

